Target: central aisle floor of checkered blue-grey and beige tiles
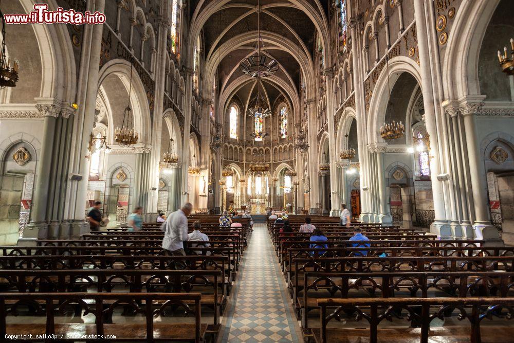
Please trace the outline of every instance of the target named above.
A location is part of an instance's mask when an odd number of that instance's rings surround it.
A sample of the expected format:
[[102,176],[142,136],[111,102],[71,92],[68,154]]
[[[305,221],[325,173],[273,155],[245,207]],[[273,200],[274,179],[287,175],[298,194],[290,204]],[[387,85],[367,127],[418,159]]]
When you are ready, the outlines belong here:
[[300,327],[265,224],[255,224],[218,341],[298,342]]

